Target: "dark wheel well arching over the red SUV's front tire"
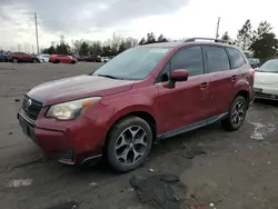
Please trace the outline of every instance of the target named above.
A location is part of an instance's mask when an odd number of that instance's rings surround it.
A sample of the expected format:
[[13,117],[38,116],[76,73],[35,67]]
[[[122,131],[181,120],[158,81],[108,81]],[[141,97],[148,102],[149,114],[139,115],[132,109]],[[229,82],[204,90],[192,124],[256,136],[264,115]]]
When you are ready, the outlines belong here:
[[[116,125],[118,121],[129,117],[129,116],[136,116],[136,117],[139,117],[141,119],[143,119],[146,122],[148,122],[148,125],[150,126],[151,128],[151,131],[152,131],[152,138],[153,138],[153,141],[156,141],[157,139],[157,122],[156,122],[156,119],[148,112],[145,112],[145,111],[136,111],[136,112],[130,112],[126,116],[122,116],[121,118],[119,118],[118,120],[115,121],[113,125]],[[113,127],[113,125],[110,127],[107,136],[109,135],[111,128]],[[107,143],[107,136],[106,136],[106,143]],[[105,143],[105,147],[103,147],[103,151],[106,151],[106,143]]]

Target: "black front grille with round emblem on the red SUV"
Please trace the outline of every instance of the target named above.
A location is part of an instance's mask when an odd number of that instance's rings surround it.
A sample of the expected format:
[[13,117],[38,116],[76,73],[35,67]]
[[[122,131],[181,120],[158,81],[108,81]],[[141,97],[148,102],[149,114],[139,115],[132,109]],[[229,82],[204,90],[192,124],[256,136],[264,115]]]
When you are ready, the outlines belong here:
[[30,119],[36,120],[42,109],[42,102],[26,96],[22,103],[22,109]]

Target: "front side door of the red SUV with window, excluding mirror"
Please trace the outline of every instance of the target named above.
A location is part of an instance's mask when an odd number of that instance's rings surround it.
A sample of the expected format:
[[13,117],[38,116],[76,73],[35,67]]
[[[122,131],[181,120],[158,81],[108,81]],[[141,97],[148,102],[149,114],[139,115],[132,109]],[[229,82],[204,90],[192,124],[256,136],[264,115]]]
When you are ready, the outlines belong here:
[[[187,81],[176,82],[176,87],[169,89],[168,80],[171,71],[186,69],[189,71]],[[177,51],[165,66],[158,81],[158,98],[156,100],[160,130],[185,130],[189,125],[206,125],[207,102],[209,99],[209,79],[203,70],[203,56],[201,47],[192,46]],[[200,123],[198,123],[200,122]]]

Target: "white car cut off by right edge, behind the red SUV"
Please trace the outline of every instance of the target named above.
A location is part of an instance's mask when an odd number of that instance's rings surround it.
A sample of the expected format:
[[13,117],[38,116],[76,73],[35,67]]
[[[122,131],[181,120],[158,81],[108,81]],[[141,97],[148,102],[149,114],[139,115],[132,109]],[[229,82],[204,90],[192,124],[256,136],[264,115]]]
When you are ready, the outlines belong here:
[[256,69],[255,98],[278,101],[278,59],[268,60]]

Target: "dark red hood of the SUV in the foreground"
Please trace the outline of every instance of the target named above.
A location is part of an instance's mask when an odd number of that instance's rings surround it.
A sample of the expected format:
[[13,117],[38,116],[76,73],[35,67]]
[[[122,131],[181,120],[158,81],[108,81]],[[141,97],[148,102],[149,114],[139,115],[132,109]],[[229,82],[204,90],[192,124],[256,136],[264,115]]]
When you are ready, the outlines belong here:
[[131,89],[135,81],[98,76],[78,76],[42,83],[27,94],[43,106],[51,106],[93,96],[108,96]]

